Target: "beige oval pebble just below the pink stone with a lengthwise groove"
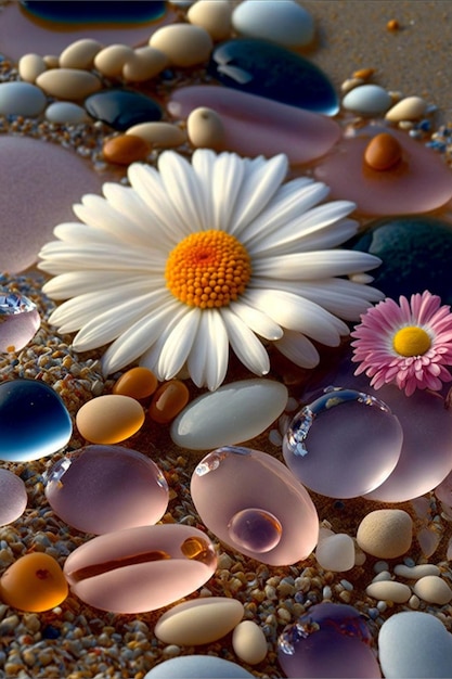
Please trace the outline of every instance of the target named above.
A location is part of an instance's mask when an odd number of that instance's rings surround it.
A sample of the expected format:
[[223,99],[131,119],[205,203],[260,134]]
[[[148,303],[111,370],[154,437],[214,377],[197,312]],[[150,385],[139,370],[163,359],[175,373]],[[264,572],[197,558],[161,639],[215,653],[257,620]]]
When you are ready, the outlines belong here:
[[195,599],[164,613],[154,633],[165,643],[186,646],[211,643],[234,629],[243,614],[243,604],[235,599]]

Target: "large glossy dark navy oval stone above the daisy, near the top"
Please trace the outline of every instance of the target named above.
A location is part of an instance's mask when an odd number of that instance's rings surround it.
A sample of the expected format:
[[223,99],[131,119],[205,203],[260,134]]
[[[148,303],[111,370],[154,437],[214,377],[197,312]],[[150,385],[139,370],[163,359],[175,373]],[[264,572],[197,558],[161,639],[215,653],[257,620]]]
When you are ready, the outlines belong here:
[[335,115],[339,101],[326,75],[307,59],[256,38],[219,44],[207,67],[227,87],[267,99]]

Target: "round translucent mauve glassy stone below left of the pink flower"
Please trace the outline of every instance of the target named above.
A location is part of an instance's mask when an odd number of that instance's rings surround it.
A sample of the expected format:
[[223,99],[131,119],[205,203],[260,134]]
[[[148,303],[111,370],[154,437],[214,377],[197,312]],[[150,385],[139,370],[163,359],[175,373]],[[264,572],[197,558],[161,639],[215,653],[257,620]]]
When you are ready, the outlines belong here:
[[399,460],[402,440],[399,420],[380,399],[331,389],[295,415],[283,452],[305,486],[345,499],[382,485]]

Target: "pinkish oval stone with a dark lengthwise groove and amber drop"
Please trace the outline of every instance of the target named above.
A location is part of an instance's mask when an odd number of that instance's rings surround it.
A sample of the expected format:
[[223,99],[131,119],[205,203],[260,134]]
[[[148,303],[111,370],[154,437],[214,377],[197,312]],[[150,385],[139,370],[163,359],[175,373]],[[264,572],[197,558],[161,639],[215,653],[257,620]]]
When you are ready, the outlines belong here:
[[217,566],[205,533],[181,524],[115,530],[78,547],[64,564],[74,594],[101,611],[156,611],[202,587]]

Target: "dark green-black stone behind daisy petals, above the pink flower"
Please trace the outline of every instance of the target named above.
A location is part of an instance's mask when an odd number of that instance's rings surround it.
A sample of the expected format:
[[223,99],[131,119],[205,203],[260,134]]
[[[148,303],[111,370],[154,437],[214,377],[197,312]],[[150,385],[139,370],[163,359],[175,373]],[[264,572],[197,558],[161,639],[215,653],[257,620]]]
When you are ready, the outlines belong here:
[[425,215],[378,219],[348,245],[382,259],[372,284],[387,297],[428,290],[452,305],[452,223]]

